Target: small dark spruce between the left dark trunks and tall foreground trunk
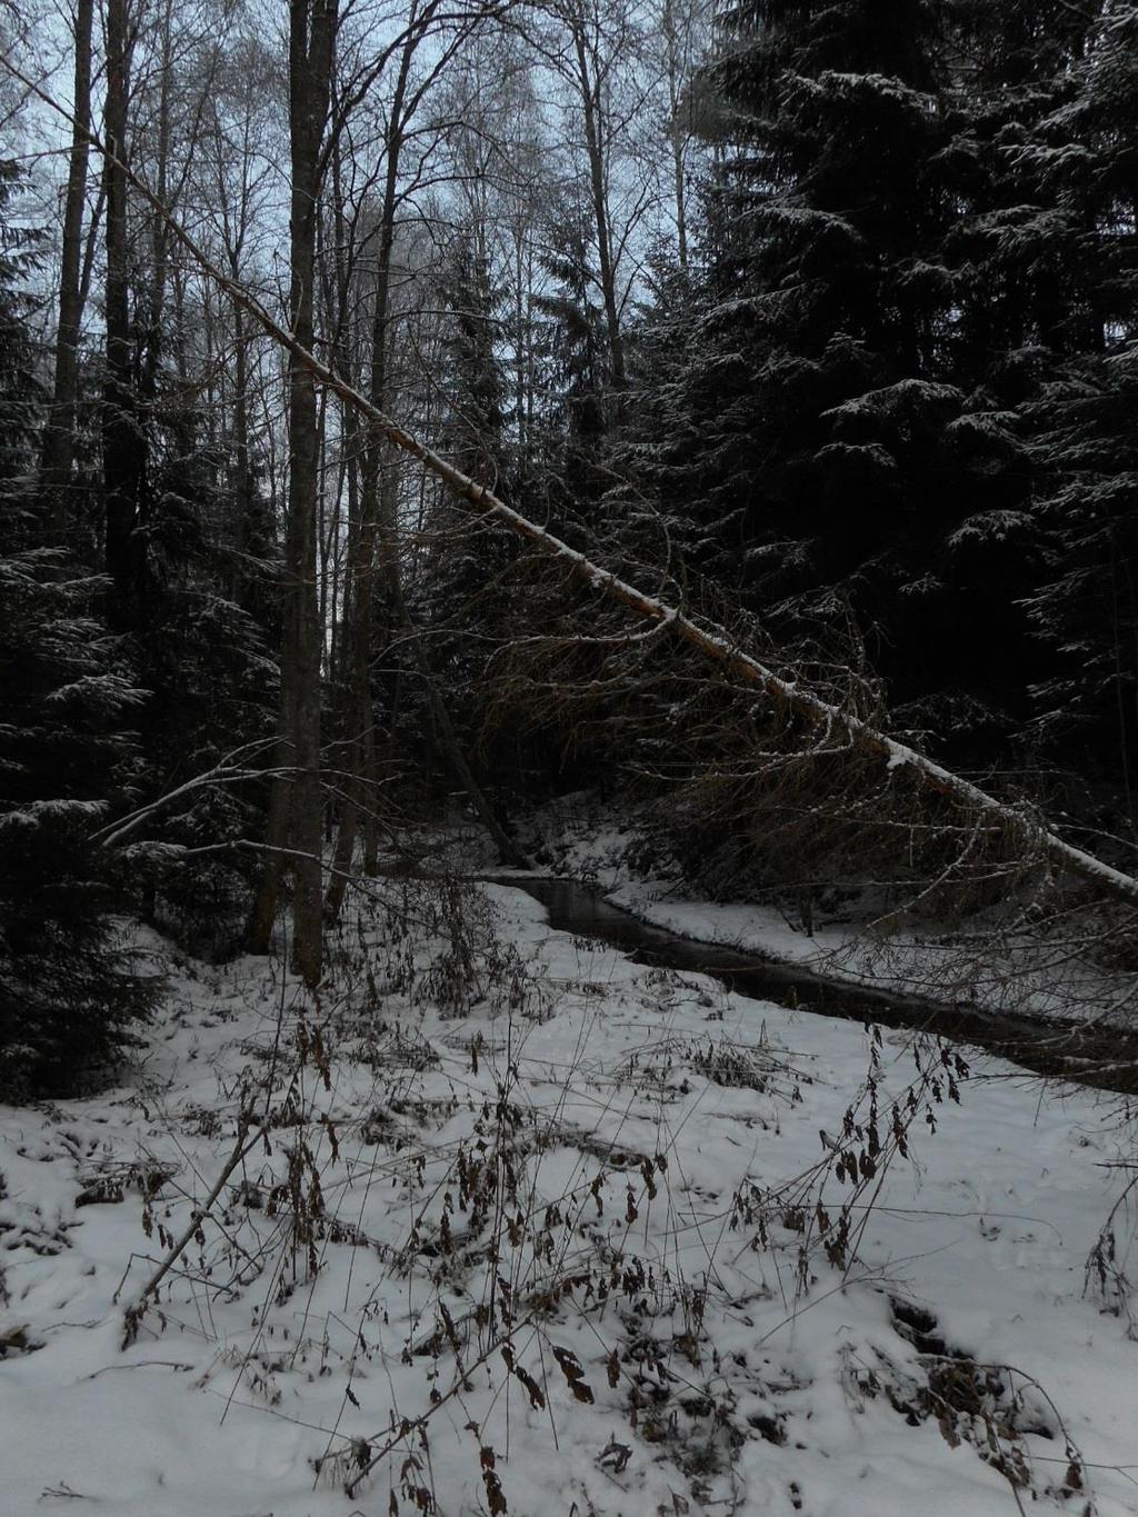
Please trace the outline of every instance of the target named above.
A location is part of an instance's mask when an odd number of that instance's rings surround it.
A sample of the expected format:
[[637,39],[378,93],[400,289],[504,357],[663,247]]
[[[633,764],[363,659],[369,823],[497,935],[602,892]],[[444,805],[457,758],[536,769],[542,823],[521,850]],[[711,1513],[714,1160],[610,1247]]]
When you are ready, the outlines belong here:
[[[144,579],[132,608],[134,664],[149,692],[137,718],[147,799],[226,762],[249,768],[252,760],[255,769],[269,751],[278,699],[266,628],[232,598],[244,589],[272,614],[275,566],[261,561],[253,573],[250,555],[232,552],[225,523],[235,502],[220,461],[194,444],[191,422],[182,416],[178,432],[155,438]],[[261,804],[252,781],[193,786],[162,807],[152,830],[161,846],[137,857],[144,913],[205,957],[225,956],[240,941],[255,862],[226,845],[258,836]]]

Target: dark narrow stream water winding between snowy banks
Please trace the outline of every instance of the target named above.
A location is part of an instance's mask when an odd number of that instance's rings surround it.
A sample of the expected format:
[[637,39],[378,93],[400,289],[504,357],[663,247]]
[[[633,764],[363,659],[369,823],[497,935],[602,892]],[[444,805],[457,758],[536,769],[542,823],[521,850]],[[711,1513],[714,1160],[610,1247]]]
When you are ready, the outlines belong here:
[[900,992],[865,991],[827,980],[800,965],[701,944],[651,927],[578,880],[520,874],[487,878],[534,897],[546,909],[549,925],[558,931],[610,944],[634,963],[709,974],[730,991],[756,1001],[933,1033],[998,1053],[1033,1074],[1106,1091],[1138,1092],[1138,1036],[1133,1033],[1086,1030],[1003,1012],[980,1012],[971,1006],[948,1006]]

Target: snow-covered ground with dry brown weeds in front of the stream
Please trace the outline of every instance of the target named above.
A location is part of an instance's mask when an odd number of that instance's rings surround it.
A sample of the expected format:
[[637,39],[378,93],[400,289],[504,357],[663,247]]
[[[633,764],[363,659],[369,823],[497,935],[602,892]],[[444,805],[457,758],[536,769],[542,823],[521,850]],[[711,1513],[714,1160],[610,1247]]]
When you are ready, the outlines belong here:
[[1115,1101],[508,887],[378,886],[319,1003],[146,942],[141,1069],[0,1107],[5,1514],[1138,1512]]

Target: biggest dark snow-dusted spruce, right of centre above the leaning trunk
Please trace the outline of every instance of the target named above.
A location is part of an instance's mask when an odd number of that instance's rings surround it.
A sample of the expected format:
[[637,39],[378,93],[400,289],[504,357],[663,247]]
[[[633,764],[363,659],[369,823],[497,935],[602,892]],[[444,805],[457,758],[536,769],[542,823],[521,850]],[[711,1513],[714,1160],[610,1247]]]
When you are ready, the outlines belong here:
[[957,360],[950,20],[932,0],[728,17],[707,273],[654,466],[692,504],[696,567],[783,639],[853,617],[903,719],[964,742],[1015,689],[1030,534],[1014,419]]

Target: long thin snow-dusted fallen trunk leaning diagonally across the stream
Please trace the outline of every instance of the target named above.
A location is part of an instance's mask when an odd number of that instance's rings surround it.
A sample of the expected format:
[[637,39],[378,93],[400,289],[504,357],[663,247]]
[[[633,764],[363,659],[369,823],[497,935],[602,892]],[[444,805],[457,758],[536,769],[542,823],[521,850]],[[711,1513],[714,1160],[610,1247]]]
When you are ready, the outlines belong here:
[[[50,111],[70,126],[76,126],[74,117],[67,106],[61,105],[42,85],[24,74],[9,58],[0,61],[12,77]],[[322,363],[300,344],[287,328],[273,319],[255,294],[214,264],[170,208],[150,190],[146,181],[111,152],[97,132],[86,130],[86,137],[100,156],[106,162],[114,164],[150,209],[162,218],[173,238],[194,259],[202,273],[223,290],[237,306],[246,311],[267,337],[288,352],[297,364],[307,369],[314,379],[343,400],[344,405],[366,417],[376,434],[385,437],[395,448],[399,448],[411,458],[416,458],[475,511],[510,528],[510,531],[525,539],[539,552],[560,563],[574,578],[592,586],[605,599],[624,605],[627,610],[651,622],[665,623],[678,642],[693,648],[721,669],[756,686],[786,710],[794,711],[810,724],[821,722],[824,727],[830,725],[844,731],[848,736],[850,745],[859,752],[880,758],[889,769],[904,766],[923,789],[962,806],[974,807],[983,816],[994,818],[1011,837],[1021,840],[1027,848],[1045,857],[1055,869],[1085,880],[1106,897],[1129,906],[1138,906],[1138,878],[1133,875],[1124,874],[1121,869],[1115,869],[1082,848],[1073,846],[1059,837],[1058,833],[1053,833],[1042,822],[1036,821],[1027,810],[997,799],[971,781],[933,763],[932,758],[927,758],[915,748],[888,737],[860,718],[831,705],[812,690],[800,686],[798,681],[777,675],[757,657],[739,648],[725,628],[715,622],[695,620],[678,607],[668,605],[655,596],[637,590],[636,586],[628,584],[610,569],[593,563],[583,552],[571,548],[569,543],[561,542],[560,537],[555,537],[537,522],[531,522],[520,511],[516,511],[505,501],[501,501],[484,485],[463,473],[461,469],[448,463],[446,458],[399,426],[379,407],[373,405],[367,396],[361,394],[360,390],[347,384],[328,364]]]

